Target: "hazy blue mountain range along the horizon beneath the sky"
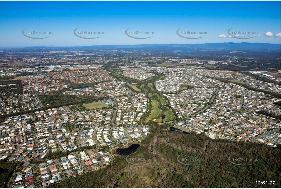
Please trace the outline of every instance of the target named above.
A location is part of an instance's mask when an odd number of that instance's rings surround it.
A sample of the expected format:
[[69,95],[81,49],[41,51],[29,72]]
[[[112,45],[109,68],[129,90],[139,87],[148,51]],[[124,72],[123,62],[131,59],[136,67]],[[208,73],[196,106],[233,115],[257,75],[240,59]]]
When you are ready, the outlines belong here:
[[155,49],[169,50],[177,48],[192,48],[197,50],[280,50],[280,44],[271,43],[202,43],[202,44],[143,44],[143,45],[93,45],[93,46],[73,46],[73,47],[48,47],[34,46],[23,49],[91,49],[91,50],[121,50],[121,49]]

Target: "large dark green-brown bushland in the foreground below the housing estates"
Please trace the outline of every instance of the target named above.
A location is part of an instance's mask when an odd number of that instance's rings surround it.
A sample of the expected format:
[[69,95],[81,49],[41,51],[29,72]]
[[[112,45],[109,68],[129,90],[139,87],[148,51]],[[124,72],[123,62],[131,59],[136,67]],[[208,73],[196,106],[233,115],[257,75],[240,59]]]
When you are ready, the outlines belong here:
[[[204,134],[183,134],[168,126],[152,128],[131,156],[152,158],[149,165],[128,164],[124,155],[104,169],[66,179],[50,187],[280,187],[280,146],[210,139]],[[249,166],[228,161],[232,154],[240,158],[258,158]],[[177,157],[204,158],[201,165],[178,163]],[[256,185],[256,181],[275,181],[274,185]]]

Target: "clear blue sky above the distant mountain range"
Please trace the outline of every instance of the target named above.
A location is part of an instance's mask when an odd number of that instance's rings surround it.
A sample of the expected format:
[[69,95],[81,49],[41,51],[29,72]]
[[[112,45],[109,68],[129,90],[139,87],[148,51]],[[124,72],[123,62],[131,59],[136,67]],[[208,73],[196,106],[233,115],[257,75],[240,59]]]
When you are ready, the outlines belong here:
[[[11,1],[0,2],[1,47],[15,46],[88,46],[127,44],[193,44],[224,42],[280,43],[280,1]],[[47,37],[31,39],[22,34],[27,31],[52,32]],[[74,30],[104,32],[99,37],[82,39]],[[134,39],[125,35],[129,32],[155,32],[151,37]],[[179,32],[206,32],[204,35]],[[231,32],[257,32],[251,39],[236,39]],[[266,35],[265,35],[266,34]],[[259,36],[258,36],[259,35]],[[220,36],[220,37],[219,37]],[[249,35],[247,35],[249,36]],[[252,35],[250,35],[252,36]],[[276,37],[277,36],[277,37]],[[242,37],[240,35],[240,37]]]

